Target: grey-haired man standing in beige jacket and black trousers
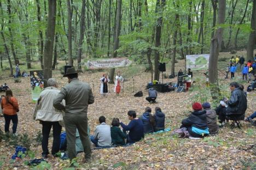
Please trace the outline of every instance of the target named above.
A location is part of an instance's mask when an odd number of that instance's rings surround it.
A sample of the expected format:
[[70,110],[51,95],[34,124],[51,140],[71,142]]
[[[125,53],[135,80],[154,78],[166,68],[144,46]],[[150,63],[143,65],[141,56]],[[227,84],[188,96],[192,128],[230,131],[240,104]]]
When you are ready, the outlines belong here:
[[[63,122],[62,112],[56,110],[53,107],[54,98],[60,93],[57,89],[57,82],[54,78],[49,78],[47,81],[48,87],[46,87],[39,95],[36,107],[34,109],[34,120],[39,120],[42,127],[42,156],[46,158],[49,154],[48,140],[53,127],[53,147],[51,148],[51,154],[56,156],[60,149],[60,134],[62,126],[59,122]],[[64,101],[63,101],[64,102]],[[63,104],[63,103],[62,103]]]

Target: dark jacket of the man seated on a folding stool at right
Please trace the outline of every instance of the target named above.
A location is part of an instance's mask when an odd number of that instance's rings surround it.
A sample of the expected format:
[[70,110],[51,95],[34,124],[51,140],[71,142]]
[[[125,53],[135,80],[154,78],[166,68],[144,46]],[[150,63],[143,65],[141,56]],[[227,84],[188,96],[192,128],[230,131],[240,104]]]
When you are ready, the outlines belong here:
[[226,108],[226,115],[244,115],[247,109],[247,99],[245,93],[239,88],[235,88],[231,92],[230,100],[228,101],[228,107]]

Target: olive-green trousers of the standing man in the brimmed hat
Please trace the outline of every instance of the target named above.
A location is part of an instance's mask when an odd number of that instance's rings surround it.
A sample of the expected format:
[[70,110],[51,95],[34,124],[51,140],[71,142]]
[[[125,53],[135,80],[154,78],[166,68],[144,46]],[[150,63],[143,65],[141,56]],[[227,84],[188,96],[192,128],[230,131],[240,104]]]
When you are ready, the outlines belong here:
[[68,157],[72,160],[75,155],[75,131],[78,129],[80,139],[84,147],[85,159],[91,157],[91,141],[88,137],[87,116],[79,114],[65,114],[64,123],[66,128]]

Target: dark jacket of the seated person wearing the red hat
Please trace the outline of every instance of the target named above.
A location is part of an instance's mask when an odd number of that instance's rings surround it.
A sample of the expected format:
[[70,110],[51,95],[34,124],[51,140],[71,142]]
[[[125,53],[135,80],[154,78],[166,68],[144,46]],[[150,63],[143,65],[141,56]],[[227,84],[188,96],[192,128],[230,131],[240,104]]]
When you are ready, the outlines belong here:
[[207,128],[206,111],[194,111],[190,116],[182,120],[182,125],[185,127],[197,127],[199,129]]

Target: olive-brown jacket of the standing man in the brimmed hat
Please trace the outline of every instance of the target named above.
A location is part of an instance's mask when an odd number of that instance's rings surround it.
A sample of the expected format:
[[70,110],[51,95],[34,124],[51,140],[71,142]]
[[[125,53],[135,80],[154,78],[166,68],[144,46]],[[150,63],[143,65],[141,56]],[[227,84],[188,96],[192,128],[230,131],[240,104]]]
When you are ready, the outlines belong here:
[[[65,99],[66,106],[61,104]],[[88,83],[73,78],[54,99],[53,105],[57,110],[64,110],[65,116],[73,114],[85,114],[87,116],[88,105],[94,103],[94,95]]]

